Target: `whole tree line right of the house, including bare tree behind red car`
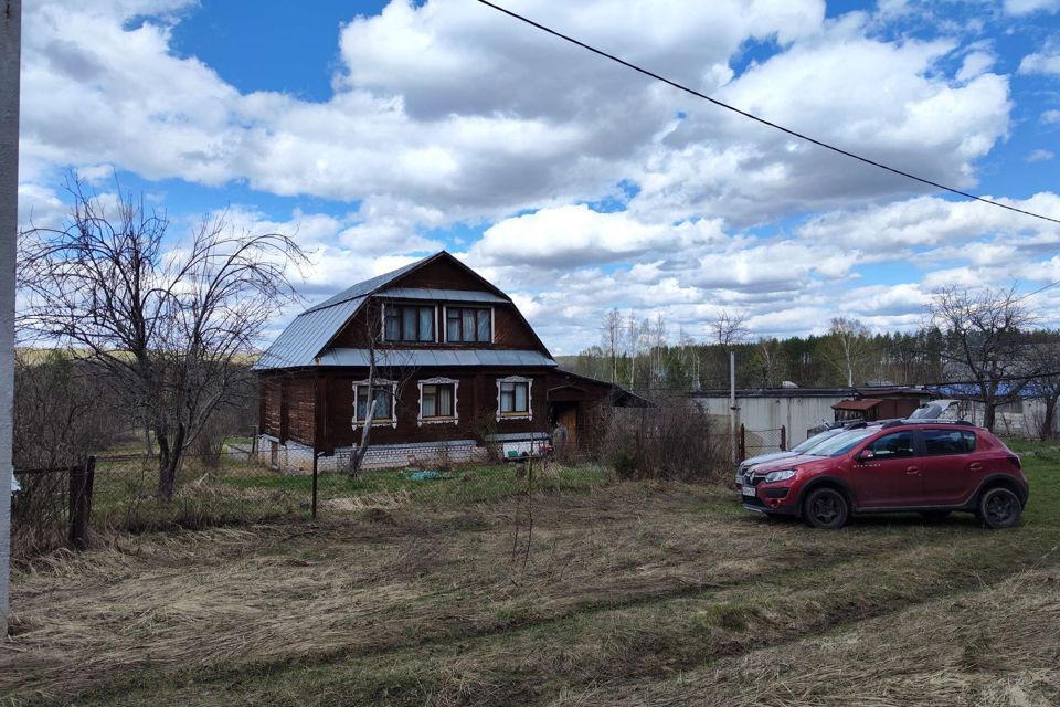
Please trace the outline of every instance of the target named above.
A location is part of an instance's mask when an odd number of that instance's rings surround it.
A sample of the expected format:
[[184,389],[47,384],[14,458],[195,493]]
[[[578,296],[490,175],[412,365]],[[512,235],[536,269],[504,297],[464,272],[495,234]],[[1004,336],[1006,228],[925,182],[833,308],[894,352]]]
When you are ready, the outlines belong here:
[[640,392],[687,392],[729,387],[735,354],[738,388],[855,388],[944,386],[996,411],[1024,397],[1045,405],[1043,428],[1054,426],[1060,399],[1060,330],[1039,326],[1028,298],[1015,287],[947,287],[934,293],[912,331],[871,331],[836,317],[822,335],[753,337],[746,317],[722,312],[707,340],[679,328],[671,337],[661,314],[608,312],[601,341],[572,357],[571,370]]

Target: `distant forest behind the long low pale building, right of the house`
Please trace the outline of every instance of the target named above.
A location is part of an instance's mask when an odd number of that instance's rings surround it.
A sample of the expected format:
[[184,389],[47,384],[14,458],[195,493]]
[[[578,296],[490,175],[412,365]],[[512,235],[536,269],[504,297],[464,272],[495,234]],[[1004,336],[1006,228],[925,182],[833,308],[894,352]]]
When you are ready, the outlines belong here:
[[[860,321],[836,318],[822,336],[752,341],[740,318],[722,315],[713,325],[714,340],[703,344],[683,333],[670,340],[660,316],[637,321],[613,310],[602,329],[601,344],[576,356],[558,357],[558,361],[576,373],[638,391],[728,388],[730,350],[735,352],[738,388],[780,388],[785,381],[801,388],[931,384],[977,377],[962,361],[961,349],[973,342],[971,335],[955,336],[937,327],[871,334]],[[997,373],[1043,371],[1050,361],[1039,356],[1026,363],[1013,359],[1036,349],[1056,362],[1060,350],[1060,331],[1056,330],[1014,328],[998,336],[987,327],[977,334],[974,348],[985,347],[978,354],[986,359],[1000,359]],[[998,346],[990,347],[992,337],[998,339]],[[1005,339],[1004,346],[1000,339]]]

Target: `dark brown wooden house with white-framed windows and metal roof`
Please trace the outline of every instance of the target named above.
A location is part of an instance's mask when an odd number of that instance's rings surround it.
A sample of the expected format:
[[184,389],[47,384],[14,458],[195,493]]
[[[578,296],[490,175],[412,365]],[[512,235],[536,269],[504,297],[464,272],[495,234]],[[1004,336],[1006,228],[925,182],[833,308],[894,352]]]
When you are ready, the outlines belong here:
[[254,368],[259,449],[284,468],[341,468],[365,424],[365,467],[530,452],[558,428],[579,446],[602,405],[637,402],[559,370],[511,298],[445,251],[310,307]]

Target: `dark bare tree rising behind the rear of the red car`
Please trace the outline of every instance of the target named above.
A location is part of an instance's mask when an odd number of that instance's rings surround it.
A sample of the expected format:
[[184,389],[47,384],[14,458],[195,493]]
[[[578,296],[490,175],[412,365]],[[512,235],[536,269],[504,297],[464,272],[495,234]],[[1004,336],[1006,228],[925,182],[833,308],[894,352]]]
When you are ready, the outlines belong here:
[[946,287],[929,304],[929,323],[945,340],[946,376],[973,381],[987,430],[994,430],[997,408],[1017,400],[1029,380],[1024,335],[1034,321],[1015,287]]

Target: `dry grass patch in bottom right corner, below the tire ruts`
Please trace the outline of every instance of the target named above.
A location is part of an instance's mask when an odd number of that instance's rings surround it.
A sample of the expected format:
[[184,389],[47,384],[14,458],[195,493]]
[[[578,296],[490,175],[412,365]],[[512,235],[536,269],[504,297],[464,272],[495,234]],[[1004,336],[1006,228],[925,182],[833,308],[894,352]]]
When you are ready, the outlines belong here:
[[960,598],[752,651],[678,678],[556,707],[1031,707],[1060,704],[1060,574],[1030,570]]

